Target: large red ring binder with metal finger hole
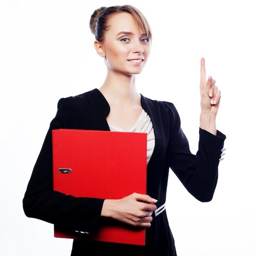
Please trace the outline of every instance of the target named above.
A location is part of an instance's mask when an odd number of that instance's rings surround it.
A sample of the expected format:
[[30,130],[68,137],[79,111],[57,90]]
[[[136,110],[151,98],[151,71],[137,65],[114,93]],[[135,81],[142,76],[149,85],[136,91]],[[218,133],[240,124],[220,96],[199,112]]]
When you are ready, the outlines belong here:
[[[146,194],[146,133],[59,129],[52,143],[55,191],[103,199]],[[54,226],[54,236],[145,245],[145,229],[117,222],[88,236]]]

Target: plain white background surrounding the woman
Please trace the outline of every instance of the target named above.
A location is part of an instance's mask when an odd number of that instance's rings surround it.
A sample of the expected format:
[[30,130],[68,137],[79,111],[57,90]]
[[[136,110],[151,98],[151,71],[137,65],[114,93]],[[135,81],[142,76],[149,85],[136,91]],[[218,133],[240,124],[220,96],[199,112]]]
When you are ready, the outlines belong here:
[[68,256],[72,240],[27,218],[22,198],[58,99],[99,88],[106,67],[93,48],[94,9],[132,4],[153,30],[137,89],[171,101],[196,153],[200,58],[222,91],[217,126],[227,135],[213,200],[201,203],[170,172],[167,213],[179,256],[256,255],[256,15],[250,0],[1,0],[0,254]]

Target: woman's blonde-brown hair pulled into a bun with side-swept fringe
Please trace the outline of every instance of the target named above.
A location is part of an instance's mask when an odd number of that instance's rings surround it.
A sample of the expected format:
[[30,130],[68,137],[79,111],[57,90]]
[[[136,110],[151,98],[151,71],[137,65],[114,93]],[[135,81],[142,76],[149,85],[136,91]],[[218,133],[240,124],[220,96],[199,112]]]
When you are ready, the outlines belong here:
[[137,8],[132,5],[116,5],[112,7],[101,7],[96,9],[90,19],[90,30],[95,35],[95,39],[99,42],[104,40],[106,31],[109,29],[109,18],[115,13],[127,12],[130,13],[138,28],[145,31],[150,39],[152,39],[151,28],[146,17]]

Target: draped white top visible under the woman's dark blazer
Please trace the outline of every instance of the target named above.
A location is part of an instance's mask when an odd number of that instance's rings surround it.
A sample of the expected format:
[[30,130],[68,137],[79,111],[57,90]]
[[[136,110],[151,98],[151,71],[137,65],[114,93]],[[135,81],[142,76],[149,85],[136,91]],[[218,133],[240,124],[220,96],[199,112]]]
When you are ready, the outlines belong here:
[[147,112],[145,110],[142,111],[139,116],[136,124],[130,128],[130,130],[126,131],[117,126],[113,126],[112,124],[108,124],[110,131],[112,132],[146,132],[147,133],[147,164],[150,160],[151,155],[153,154],[153,150],[155,147],[155,133],[153,124]]

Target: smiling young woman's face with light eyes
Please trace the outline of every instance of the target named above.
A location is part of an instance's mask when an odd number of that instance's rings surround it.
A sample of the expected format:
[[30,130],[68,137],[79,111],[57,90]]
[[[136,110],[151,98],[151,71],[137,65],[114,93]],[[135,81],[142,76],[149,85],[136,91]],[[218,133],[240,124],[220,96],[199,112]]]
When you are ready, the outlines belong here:
[[150,38],[139,29],[130,13],[114,14],[102,42],[110,72],[139,74],[150,55]]

